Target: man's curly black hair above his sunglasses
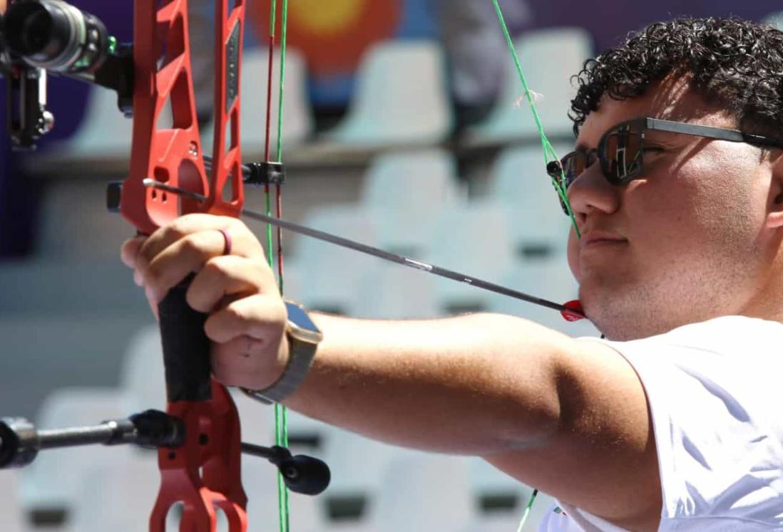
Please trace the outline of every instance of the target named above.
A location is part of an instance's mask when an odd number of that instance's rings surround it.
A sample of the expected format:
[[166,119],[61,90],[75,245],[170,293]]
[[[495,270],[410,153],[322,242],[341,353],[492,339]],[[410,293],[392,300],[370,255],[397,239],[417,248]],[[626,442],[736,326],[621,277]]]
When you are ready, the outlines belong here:
[[725,106],[738,127],[783,137],[783,32],[736,18],[690,17],[653,23],[588,59],[574,76],[574,133],[604,94],[633,98],[669,74],[690,76],[691,88]]

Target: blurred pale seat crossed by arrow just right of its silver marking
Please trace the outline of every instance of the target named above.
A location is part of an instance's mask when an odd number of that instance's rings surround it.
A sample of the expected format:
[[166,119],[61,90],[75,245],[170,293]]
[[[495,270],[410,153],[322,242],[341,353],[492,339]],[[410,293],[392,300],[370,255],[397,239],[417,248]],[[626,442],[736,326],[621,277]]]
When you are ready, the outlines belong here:
[[[424,260],[500,284],[501,275],[514,262],[508,226],[507,213],[494,203],[448,207],[438,216]],[[449,314],[486,310],[493,296],[452,279],[435,279],[435,290],[441,311]]]

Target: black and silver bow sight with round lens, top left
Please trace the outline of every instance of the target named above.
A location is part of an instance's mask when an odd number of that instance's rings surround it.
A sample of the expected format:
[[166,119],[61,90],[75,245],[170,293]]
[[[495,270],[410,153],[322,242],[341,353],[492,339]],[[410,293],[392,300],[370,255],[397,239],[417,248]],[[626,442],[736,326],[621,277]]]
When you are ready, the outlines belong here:
[[46,109],[49,72],[114,89],[117,106],[132,116],[132,48],[117,45],[96,16],[62,0],[11,2],[2,17],[0,50],[14,149],[34,149],[54,126]]

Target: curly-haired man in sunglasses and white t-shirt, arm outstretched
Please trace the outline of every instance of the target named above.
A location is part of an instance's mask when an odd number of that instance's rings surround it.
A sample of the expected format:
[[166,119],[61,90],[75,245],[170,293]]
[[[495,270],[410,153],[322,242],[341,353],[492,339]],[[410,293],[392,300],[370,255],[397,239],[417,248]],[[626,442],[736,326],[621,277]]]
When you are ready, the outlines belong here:
[[[568,259],[606,340],[503,315],[312,315],[309,375],[276,397],[481,456],[561,502],[542,530],[781,530],[783,34],[657,23],[578,81]],[[210,314],[223,383],[275,396],[293,382],[286,307],[239,221],[182,217],[123,257],[153,306],[198,272],[188,301]]]

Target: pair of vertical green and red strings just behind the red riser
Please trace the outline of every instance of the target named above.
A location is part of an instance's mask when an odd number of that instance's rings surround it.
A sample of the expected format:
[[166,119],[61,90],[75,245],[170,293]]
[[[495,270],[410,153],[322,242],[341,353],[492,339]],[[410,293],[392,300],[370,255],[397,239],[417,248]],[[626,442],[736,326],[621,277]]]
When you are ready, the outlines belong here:
[[[272,162],[269,146],[272,131],[272,70],[274,63],[274,49],[276,38],[276,11],[277,0],[269,0],[269,67],[266,87],[266,136],[265,136],[265,162]],[[277,146],[276,163],[283,162],[283,86],[285,81],[285,57],[288,24],[288,0],[283,0],[280,20],[280,89],[277,102]],[[269,183],[264,185],[265,208],[267,216],[272,216],[272,194]],[[275,184],[276,217],[283,217],[282,190],[280,183]],[[266,227],[267,261],[270,267],[274,267],[275,255],[277,259],[277,283],[280,295],[283,295],[283,230],[277,228],[276,253],[272,250],[272,225]],[[282,404],[275,404],[275,443],[281,447],[288,447],[288,411]],[[288,501],[288,488],[283,481],[282,473],[277,474],[277,504],[278,523],[280,532],[289,532],[290,505]]]

